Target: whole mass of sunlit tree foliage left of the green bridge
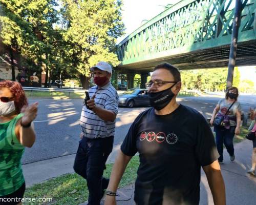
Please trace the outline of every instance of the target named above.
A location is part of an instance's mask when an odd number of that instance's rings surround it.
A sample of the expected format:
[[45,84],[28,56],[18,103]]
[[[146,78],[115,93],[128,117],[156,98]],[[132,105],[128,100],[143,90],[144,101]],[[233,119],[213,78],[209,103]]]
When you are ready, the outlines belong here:
[[0,37],[27,69],[45,67],[50,79],[75,74],[88,87],[97,61],[119,64],[121,6],[120,0],[0,0]]

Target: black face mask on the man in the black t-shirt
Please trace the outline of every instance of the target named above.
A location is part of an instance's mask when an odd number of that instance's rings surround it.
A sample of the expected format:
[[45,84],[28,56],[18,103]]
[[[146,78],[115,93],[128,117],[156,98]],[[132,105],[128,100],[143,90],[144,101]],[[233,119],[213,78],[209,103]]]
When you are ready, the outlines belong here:
[[173,99],[174,93],[171,90],[174,85],[172,85],[170,88],[167,88],[166,90],[162,90],[157,93],[150,92],[150,105],[154,107],[156,110],[162,110],[165,106],[167,106],[170,102],[170,100]]

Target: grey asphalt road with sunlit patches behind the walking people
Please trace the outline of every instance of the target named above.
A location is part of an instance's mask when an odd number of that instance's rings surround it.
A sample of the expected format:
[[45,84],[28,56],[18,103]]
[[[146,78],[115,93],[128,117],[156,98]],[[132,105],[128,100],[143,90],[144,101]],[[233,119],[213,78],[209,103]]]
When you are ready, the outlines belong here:
[[[182,97],[178,100],[183,105],[197,109],[208,118],[219,99],[220,96]],[[23,163],[32,163],[74,154],[79,141],[79,117],[82,100],[30,99],[29,101],[30,103],[34,101],[38,101],[39,103],[38,115],[35,120],[37,139],[32,148],[26,149]],[[241,102],[242,110],[248,112],[249,107],[256,106],[256,96],[241,96]],[[114,140],[115,147],[121,144],[135,117],[146,109],[119,109]]]

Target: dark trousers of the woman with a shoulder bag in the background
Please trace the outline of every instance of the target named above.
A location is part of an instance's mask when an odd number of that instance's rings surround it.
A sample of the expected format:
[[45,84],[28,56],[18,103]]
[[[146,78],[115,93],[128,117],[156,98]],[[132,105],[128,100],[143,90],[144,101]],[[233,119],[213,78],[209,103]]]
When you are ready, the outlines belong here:
[[219,160],[223,160],[223,142],[230,156],[234,154],[233,138],[236,126],[231,126],[230,129],[215,127],[216,145],[219,152]]

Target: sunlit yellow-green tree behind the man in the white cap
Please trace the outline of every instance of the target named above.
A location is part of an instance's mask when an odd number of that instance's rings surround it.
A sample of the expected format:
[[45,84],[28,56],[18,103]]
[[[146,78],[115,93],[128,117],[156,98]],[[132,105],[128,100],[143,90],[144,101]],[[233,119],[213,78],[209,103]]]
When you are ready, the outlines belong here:
[[67,56],[71,72],[89,87],[90,67],[103,60],[119,64],[115,52],[116,38],[121,36],[120,0],[63,0],[62,18],[66,19]]

